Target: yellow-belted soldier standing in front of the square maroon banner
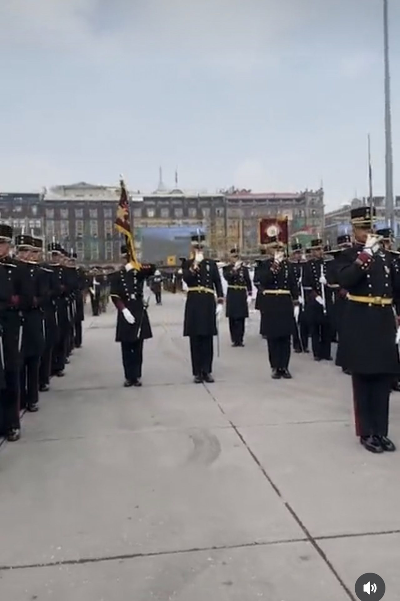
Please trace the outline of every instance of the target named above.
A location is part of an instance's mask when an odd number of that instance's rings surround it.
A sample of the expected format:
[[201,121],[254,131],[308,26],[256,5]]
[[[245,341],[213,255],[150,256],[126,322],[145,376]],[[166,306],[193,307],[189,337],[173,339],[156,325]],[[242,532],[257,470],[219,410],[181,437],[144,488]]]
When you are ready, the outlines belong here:
[[[290,338],[294,331],[294,304],[299,300],[299,288],[293,265],[284,258],[276,237],[269,237],[274,258],[261,263],[258,271],[260,282],[261,312],[264,314],[261,334],[268,343],[272,378],[290,379]],[[281,257],[279,257],[281,255]]]

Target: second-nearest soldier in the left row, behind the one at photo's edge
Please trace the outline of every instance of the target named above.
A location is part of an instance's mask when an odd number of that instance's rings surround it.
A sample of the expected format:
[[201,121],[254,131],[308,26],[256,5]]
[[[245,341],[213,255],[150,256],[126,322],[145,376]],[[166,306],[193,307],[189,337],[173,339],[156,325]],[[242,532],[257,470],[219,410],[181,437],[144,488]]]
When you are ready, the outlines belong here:
[[36,412],[39,409],[39,366],[45,347],[43,305],[47,296],[47,278],[37,262],[32,236],[16,236],[15,245],[26,284],[25,302],[22,304],[20,407]]

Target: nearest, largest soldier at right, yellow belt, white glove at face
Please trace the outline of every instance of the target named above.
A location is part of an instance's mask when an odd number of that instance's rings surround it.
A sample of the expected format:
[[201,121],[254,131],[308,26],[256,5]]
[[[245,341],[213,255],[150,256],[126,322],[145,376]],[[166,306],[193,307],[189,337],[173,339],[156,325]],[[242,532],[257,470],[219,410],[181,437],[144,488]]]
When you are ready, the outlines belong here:
[[348,290],[339,356],[353,379],[356,433],[366,450],[382,453],[395,450],[387,431],[390,387],[400,373],[393,313],[399,271],[372,234],[374,217],[370,207],[351,211],[356,243],[339,255],[339,284]]

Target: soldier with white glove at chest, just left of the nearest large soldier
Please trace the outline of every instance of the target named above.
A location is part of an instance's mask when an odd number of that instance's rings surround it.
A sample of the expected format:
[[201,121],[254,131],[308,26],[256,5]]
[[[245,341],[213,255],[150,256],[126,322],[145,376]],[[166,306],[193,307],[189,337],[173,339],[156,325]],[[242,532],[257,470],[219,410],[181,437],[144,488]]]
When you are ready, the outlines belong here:
[[[322,240],[320,238],[312,240],[311,248],[320,250]],[[308,319],[311,328],[312,352],[315,361],[321,361],[321,359],[332,361],[330,355],[332,343],[330,314],[332,312],[333,296],[332,289],[327,286],[326,270],[326,260],[323,257],[314,257],[306,263],[303,277],[304,287],[308,288],[306,319]],[[321,283],[321,279],[324,283]]]

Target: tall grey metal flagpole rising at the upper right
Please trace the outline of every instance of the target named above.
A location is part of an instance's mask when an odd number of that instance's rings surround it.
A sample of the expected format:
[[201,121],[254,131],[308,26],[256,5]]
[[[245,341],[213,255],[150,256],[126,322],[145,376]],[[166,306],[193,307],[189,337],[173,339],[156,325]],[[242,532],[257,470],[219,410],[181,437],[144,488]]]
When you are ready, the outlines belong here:
[[393,152],[392,152],[392,115],[390,109],[390,66],[389,66],[389,7],[383,0],[383,36],[384,36],[384,91],[385,91],[385,140],[386,140],[386,224],[395,231],[395,203],[393,198]]

